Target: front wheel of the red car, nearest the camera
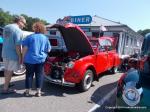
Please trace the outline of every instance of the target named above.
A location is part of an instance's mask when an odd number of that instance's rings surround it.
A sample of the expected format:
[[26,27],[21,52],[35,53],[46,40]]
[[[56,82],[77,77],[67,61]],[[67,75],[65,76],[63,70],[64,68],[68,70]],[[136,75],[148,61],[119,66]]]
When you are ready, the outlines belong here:
[[87,91],[93,82],[93,72],[91,70],[87,70],[84,74],[84,78],[80,83],[80,90],[82,92]]

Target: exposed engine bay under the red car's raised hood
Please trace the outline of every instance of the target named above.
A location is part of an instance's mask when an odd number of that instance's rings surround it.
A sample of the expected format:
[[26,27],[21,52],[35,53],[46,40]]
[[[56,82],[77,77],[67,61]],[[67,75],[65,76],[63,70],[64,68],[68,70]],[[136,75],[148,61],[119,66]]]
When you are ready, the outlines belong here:
[[44,65],[45,74],[53,79],[62,79],[69,62],[80,58],[77,52],[60,53],[55,57],[48,57]]

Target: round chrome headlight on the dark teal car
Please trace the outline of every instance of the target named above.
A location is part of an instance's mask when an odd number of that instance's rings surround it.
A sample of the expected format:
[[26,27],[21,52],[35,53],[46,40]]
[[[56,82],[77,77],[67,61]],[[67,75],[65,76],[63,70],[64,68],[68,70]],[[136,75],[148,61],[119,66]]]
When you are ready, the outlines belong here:
[[135,87],[127,87],[123,91],[122,98],[129,106],[135,106],[140,102],[141,93]]

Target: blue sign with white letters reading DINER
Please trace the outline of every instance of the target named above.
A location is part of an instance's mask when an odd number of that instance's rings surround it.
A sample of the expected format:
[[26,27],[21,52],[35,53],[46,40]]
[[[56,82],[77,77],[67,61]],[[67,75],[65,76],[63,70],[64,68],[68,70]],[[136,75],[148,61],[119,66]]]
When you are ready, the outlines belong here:
[[70,16],[71,23],[74,24],[90,24],[92,22],[92,17],[90,15],[83,16]]

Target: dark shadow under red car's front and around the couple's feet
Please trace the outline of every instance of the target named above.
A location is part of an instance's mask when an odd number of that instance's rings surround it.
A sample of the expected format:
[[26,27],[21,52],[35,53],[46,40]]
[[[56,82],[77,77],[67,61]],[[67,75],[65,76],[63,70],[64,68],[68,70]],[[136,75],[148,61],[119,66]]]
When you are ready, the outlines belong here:
[[[25,91],[25,80],[13,81],[11,82],[13,87],[12,89],[16,89],[17,93],[14,94],[1,94],[3,84],[0,85],[0,100],[5,98],[18,98],[24,97],[23,92]],[[33,92],[35,93],[35,81],[33,81]],[[31,93],[33,93],[31,91]],[[60,85],[51,84],[49,82],[44,81],[43,88],[42,88],[42,96],[59,96],[64,97],[65,94],[79,94],[79,90],[76,87],[63,87]],[[32,95],[33,96],[33,95]]]

